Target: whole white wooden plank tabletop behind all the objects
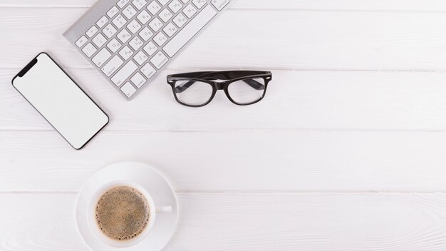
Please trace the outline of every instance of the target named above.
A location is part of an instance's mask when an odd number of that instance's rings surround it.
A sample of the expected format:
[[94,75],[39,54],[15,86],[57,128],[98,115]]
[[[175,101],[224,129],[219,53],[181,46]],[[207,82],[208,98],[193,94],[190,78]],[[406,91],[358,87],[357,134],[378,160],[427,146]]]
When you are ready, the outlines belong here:
[[[166,250],[446,250],[445,1],[238,0],[163,75],[274,81],[256,106],[202,109],[162,77],[123,101],[61,36],[93,2],[0,0],[0,250],[88,250],[76,194],[123,160],[178,192]],[[40,51],[112,117],[84,150],[11,87]]]

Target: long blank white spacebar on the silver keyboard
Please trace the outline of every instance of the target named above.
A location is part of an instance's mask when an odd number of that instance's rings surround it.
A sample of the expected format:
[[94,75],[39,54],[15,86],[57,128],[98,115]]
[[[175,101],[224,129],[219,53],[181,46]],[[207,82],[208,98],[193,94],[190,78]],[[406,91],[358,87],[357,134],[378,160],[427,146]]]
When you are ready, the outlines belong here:
[[185,46],[185,44],[192,39],[195,34],[197,34],[204,26],[206,26],[209,21],[217,15],[217,11],[212,8],[212,6],[208,5],[202,11],[199,12],[197,16],[195,16],[192,21],[190,21],[185,28],[183,28],[169,43],[162,48],[167,55],[171,58],[174,56],[180,49]]

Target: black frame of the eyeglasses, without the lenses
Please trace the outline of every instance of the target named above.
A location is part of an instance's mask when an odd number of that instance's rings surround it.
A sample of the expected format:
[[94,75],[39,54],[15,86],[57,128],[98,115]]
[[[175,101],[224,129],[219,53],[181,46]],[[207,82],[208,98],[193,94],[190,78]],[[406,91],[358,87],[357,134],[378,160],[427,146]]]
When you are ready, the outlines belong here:
[[[234,101],[234,99],[229,94],[229,85],[231,83],[237,82],[237,81],[243,81],[245,79],[250,78],[263,78],[265,86],[264,86],[264,93],[259,98],[259,100],[251,102],[251,103],[238,103]],[[201,105],[190,105],[187,103],[182,103],[180,99],[177,97],[177,91],[175,90],[175,83],[177,81],[199,81],[203,83],[208,83],[210,86],[212,86],[212,95],[209,98],[209,100],[206,103],[203,103]],[[198,71],[198,72],[191,72],[191,73],[180,73],[180,74],[172,74],[167,76],[167,83],[172,86],[172,92],[175,96],[175,100],[182,104],[183,106],[188,107],[194,107],[199,108],[203,106],[207,106],[209,103],[212,102],[215,95],[217,94],[217,91],[223,90],[226,94],[229,101],[236,104],[237,106],[250,106],[254,103],[258,103],[266,96],[266,89],[268,88],[268,83],[272,80],[272,73],[271,71]]]

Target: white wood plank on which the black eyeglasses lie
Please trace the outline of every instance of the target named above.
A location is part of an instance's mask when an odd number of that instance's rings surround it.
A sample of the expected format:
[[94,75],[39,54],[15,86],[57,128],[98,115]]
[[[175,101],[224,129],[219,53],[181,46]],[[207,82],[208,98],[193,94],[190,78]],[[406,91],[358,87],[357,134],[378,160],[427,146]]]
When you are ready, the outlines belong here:
[[[0,130],[52,130],[0,69]],[[132,102],[93,69],[69,70],[110,114],[106,130],[446,130],[446,73],[274,71],[264,101],[239,107],[218,93],[204,108],[173,98],[166,71]]]

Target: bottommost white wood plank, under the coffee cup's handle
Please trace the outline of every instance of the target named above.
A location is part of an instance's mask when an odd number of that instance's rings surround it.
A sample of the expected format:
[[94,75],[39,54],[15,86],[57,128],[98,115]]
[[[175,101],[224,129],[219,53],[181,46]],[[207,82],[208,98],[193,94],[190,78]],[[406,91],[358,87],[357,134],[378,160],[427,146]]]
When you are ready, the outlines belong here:
[[[1,250],[88,250],[73,194],[0,195]],[[446,248],[445,194],[179,194],[169,250]]]

